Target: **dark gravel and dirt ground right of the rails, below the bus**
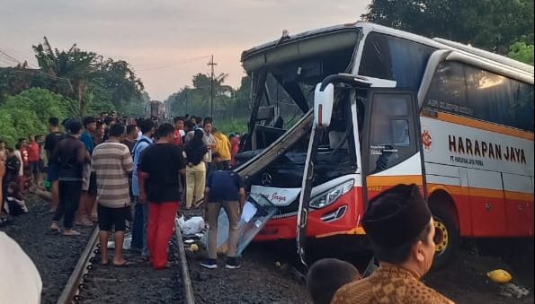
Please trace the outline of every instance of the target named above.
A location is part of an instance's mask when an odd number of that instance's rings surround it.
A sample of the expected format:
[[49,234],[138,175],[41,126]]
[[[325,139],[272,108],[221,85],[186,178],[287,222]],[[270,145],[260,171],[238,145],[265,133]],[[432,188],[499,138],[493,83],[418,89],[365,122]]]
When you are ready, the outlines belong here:
[[[369,255],[342,252],[351,239],[335,239],[308,248],[311,259],[335,256],[352,262],[363,271]],[[345,244],[347,246],[341,246]],[[253,243],[244,252],[243,267],[229,271],[199,266],[201,253],[190,256],[195,297],[199,303],[310,303],[302,277],[292,271],[295,246],[291,242]],[[310,255],[312,256],[312,255]],[[275,265],[281,263],[281,267]],[[222,269],[223,268],[223,269]],[[504,269],[513,283],[530,291],[522,299],[500,294],[502,285],[491,282],[486,273]],[[456,303],[533,303],[533,239],[465,240],[457,255],[442,269],[433,269],[424,282]]]

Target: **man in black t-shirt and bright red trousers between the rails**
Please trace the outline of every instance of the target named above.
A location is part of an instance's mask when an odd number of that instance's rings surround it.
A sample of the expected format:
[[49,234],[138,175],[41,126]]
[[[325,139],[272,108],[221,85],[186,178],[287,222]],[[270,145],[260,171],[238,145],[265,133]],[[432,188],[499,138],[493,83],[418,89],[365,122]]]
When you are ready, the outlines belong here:
[[[179,174],[185,173],[182,150],[174,145],[174,126],[164,124],[156,131],[158,141],[147,147],[138,166],[139,202],[148,202],[147,245],[151,264],[167,264],[167,243],[180,204]],[[145,203],[147,204],[147,203]]]

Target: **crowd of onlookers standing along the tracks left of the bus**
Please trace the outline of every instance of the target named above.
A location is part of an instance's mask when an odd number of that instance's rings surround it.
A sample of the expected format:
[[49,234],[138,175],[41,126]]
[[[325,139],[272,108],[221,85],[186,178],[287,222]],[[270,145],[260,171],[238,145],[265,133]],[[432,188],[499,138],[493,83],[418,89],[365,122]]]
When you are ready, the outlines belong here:
[[[209,213],[217,220],[218,210],[204,204],[210,197],[221,201],[218,208],[236,211],[230,222],[236,248],[245,190],[228,169],[236,164],[238,147],[239,134],[223,135],[211,117],[174,117],[174,124],[114,112],[61,123],[50,117],[49,135],[21,138],[14,149],[0,142],[5,167],[0,218],[27,213],[24,195],[35,193],[50,203],[50,230],[77,236],[76,226],[97,223],[103,248],[113,233],[115,252],[109,261],[103,250],[102,264],[132,262],[122,256],[129,229],[139,261],[161,269],[167,266],[166,246],[181,202],[183,209],[201,208],[207,220]],[[217,221],[209,222],[216,233]],[[215,242],[215,235],[210,239]],[[229,250],[228,268],[239,267],[235,251]],[[210,257],[203,265],[214,268],[215,256]]]

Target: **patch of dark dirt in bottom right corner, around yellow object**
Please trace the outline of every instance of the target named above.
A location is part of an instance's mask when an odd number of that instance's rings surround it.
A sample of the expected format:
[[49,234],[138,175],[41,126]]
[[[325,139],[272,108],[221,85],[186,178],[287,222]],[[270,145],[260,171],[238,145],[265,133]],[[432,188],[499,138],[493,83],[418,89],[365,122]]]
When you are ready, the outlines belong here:
[[[486,277],[495,269],[508,271],[513,284],[530,294],[522,299],[501,295],[501,284]],[[457,303],[533,303],[533,239],[465,241],[450,264],[427,274],[424,282]]]

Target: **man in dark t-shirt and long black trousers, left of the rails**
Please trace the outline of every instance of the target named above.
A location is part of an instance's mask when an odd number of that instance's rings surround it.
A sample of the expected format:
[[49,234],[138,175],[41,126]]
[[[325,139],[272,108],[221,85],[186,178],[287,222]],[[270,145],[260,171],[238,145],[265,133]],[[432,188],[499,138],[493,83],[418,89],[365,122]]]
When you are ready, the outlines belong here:
[[66,126],[69,135],[56,146],[50,162],[58,167],[59,181],[59,204],[50,230],[58,230],[58,221],[63,217],[64,235],[76,236],[80,232],[73,230],[76,209],[80,203],[82,192],[82,178],[84,165],[89,163],[89,152],[85,151],[84,143],[80,142],[80,130],[82,124],[78,121],[70,121]]

